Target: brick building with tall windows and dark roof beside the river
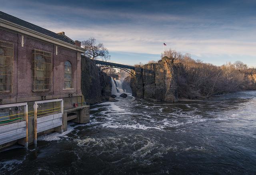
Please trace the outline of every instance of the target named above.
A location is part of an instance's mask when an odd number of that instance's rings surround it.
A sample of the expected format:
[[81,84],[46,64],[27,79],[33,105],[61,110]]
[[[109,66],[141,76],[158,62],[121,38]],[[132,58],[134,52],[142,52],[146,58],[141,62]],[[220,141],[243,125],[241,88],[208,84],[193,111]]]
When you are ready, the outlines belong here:
[[[0,12],[0,104],[28,102],[30,111],[34,101],[63,98],[64,117],[82,117],[80,54],[84,51],[80,41],[64,32],[54,33]],[[74,108],[74,104],[79,105]]]

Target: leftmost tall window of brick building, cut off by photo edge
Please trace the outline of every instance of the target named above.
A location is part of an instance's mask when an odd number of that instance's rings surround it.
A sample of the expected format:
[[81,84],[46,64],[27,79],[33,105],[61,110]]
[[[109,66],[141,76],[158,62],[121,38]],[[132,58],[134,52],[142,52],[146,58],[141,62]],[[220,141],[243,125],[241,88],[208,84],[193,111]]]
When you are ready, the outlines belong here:
[[12,92],[13,44],[0,41],[0,93]]

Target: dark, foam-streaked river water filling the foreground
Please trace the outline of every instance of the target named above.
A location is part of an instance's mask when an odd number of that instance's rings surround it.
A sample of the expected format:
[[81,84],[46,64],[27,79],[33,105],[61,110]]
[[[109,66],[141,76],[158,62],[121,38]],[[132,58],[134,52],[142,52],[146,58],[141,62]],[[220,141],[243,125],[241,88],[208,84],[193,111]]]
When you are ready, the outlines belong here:
[[0,174],[256,174],[256,91],[196,102],[117,98],[89,124],[0,152]]

